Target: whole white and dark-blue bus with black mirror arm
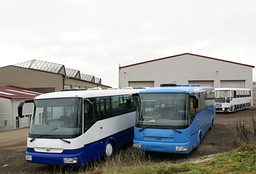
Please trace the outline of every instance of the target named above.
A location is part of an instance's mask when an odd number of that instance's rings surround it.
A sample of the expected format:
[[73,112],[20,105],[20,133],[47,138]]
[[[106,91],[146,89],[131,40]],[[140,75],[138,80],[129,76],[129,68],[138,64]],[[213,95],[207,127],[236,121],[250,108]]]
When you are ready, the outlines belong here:
[[127,96],[138,90],[69,90],[20,102],[19,116],[24,103],[34,103],[27,162],[83,165],[111,156],[133,140],[135,106]]

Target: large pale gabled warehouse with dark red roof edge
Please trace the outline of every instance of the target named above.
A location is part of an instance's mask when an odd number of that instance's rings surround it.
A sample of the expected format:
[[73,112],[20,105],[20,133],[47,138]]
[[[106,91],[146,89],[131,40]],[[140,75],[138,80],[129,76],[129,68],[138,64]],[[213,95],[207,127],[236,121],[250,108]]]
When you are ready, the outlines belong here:
[[252,68],[254,66],[248,64],[185,53],[119,66],[119,88],[178,83],[214,88],[249,88],[253,91]]

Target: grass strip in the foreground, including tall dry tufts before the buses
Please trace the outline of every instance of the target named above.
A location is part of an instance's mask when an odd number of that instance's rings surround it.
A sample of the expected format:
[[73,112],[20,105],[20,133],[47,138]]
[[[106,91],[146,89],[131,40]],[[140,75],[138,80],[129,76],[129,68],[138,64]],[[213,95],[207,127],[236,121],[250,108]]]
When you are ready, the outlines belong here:
[[144,151],[135,151],[133,148],[129,148],[125,154],[124,151],[118,151],[112,158],[99,159],[81,167],[63,167],[61,170],[55,169],[50,173],[256,173],[256,142],[240,144],[240,147],[235,150],[203,161],[183,164],[167,164],[165,162],[154,164],[150,160]]

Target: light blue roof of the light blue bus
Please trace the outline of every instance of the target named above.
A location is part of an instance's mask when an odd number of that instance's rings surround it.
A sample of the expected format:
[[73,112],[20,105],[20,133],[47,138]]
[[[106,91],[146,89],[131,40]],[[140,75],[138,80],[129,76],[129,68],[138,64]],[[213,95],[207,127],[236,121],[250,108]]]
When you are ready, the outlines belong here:
[[206,92],[206,91],[213,91],[214,88],[210,86],[173,86],[173,87],[156,87],[156,88],[146,88],[146,89],[141,89],[139,94],[143,93],[188,93],[188,94],[194,94],[194,93],[199,93],[199,92]]

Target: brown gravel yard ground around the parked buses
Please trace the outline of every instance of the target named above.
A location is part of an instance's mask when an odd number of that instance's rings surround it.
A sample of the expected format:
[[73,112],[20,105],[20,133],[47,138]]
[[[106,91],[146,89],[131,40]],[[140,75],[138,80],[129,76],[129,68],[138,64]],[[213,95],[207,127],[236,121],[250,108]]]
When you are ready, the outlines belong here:
[[[163,161],[189,162],[210,158],[213,155],[232,150],[238,142],[235,125],[240,120],[249,130],[251,141],[254,141],[252,116],[256,119],[256,107],[237,111],[236,113],[217,113],[213,128],[203,137],[199,150],[191,151],[188,155],[149,153],[152,157],[151,161],[156,163]],[[55,171],[52,165],[26,162],[25,153],[28,133],[29,128],[0,132],[0,173],[48,173]]]

